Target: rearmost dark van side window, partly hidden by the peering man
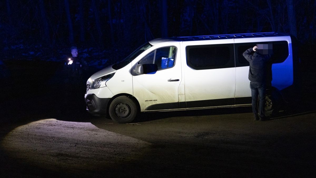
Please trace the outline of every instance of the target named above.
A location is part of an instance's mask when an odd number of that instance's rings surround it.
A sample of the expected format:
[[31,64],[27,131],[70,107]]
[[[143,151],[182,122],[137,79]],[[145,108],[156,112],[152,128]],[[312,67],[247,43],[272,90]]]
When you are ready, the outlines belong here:
[[[267,42],[258,42],[261,44],[272,43],[273,54],[271,56],[272,63],[281,63],[286,60],[289,56],[289,45],[287,41],[267,41]],[[249,62],[242,55],[247,49],[252,48],[256,45],[256,42],[253,43],[235,43],[235,52],[236,52],[236,67],[249,66]]]

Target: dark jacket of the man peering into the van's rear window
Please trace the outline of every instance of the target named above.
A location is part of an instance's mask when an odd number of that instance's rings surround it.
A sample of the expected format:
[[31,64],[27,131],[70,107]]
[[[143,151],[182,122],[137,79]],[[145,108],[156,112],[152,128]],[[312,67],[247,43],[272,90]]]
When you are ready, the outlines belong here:
[[247,49],[242,55],[250,64],[248,79],[252,82],[266,82],[267,64],[271,56],[254,52],[252,48]]

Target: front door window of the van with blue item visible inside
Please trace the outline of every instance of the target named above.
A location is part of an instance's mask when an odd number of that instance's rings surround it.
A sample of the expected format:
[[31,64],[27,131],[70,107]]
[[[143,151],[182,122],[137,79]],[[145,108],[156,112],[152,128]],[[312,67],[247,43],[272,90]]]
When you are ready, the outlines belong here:
[[176,53],[174,46],[158,48],[139,60],[138,64],[156,64],[158,70],[170,68],[174,66]]

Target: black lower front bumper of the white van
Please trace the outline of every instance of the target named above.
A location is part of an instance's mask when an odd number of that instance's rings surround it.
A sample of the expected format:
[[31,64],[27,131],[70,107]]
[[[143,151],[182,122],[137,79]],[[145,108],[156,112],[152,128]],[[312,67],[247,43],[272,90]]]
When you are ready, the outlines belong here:
[[88,112],[92,115],[106,115],[110,99],[98,98],[95,94],[88,94],[85,98]]

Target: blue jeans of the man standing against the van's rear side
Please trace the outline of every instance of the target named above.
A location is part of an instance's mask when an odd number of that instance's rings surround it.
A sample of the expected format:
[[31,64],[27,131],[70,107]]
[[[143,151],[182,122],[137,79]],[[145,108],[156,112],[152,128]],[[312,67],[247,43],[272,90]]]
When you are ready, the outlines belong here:
[[[264,117],[265,88],[266,88],[265,82],[250,82],[251,97],[252,97],[252,112],[255,116],[259,115],[261,117]],[[258,96],[259,96],[259,107],[257,107]]]

